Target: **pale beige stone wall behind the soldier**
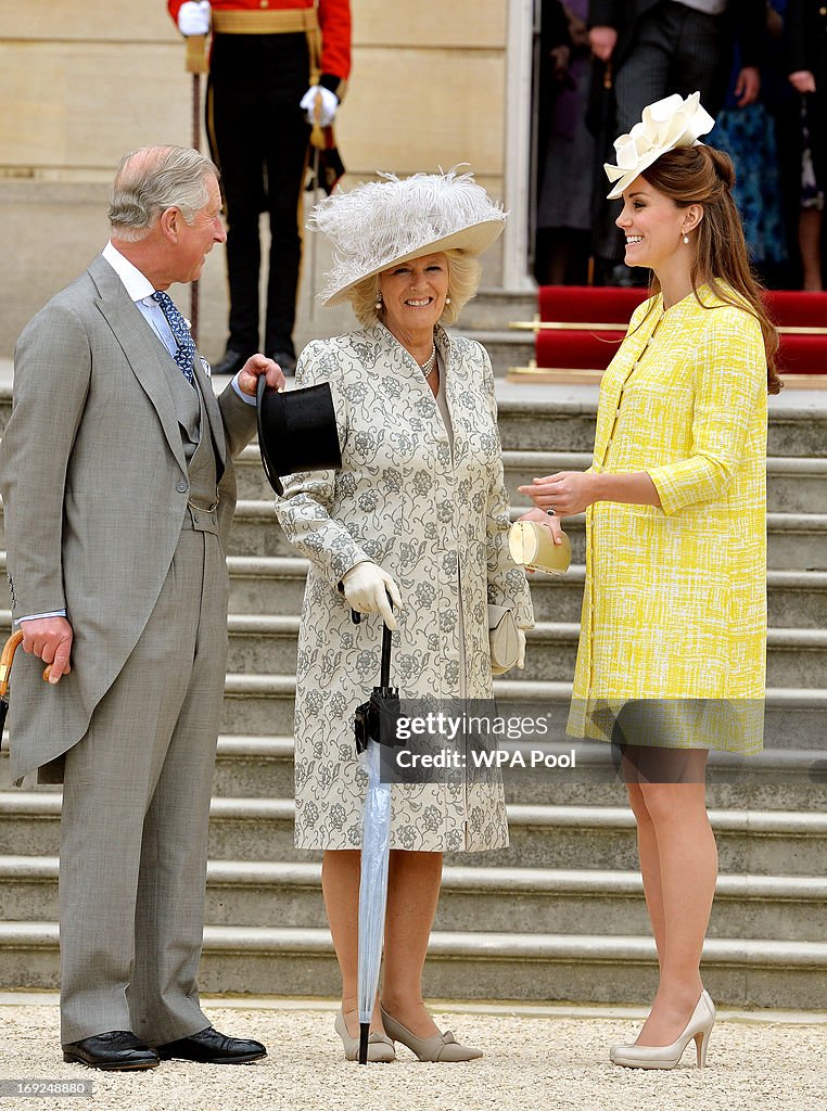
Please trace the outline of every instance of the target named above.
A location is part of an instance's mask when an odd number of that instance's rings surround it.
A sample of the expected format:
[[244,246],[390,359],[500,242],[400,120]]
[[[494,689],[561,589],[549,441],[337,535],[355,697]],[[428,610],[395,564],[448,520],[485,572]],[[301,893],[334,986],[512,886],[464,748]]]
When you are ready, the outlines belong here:
[[[353,72],[338,140],[345,188],[469,162],[494,196],[504,186],[504,0],[352,0]],[[262,74],[266,80],[266,74]],[[192,79],[163,0],[0,0],[0,220],[4,229],[0,357],[24,322],[107,238],[107,194],[120,156],[191,141]],[[266,236],[266,229],[263,229]],[[349,310],[311,308],[327,268],[306,250],[297,340],[347,327]],[[487,260],[496,286],[500,256]],[[221,249],[201,283],[201,347],[223,350]],[[182,307],[183,290],[172,290]]]

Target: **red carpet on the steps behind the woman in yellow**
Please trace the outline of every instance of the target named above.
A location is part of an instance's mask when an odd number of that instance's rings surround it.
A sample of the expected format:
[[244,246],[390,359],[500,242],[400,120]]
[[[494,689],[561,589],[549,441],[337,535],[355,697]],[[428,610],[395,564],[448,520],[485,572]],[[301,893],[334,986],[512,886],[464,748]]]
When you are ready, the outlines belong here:
[[[605,370],[629,318],[646,297],[645,289],[540,287],[540,321],[556,327],[537,331],[538,370]],[[827,374],[827,293],[773,290],[767,292],[766,302],[770,317],[783,330],[778,353],[780,372]],[[566,324],[576,327],[567,328]],[[785,329],[819,331],[807,333]]]

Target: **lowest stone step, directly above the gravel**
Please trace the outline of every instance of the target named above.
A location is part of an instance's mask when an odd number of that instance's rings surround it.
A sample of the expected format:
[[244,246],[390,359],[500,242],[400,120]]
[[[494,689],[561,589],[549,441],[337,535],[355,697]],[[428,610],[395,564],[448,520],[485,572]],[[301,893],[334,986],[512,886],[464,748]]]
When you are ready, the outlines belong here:
[[[54,990],[56,922],[0,922],[2,987]],[[721,1007],[827,1009],[827,943],[710,938],[704,983]],[[336,997],[341,978],[326,929],[207,927],[206,993]],[[435,931],[424,990],[431,999],[648,1004],[657,987],[648,938]]]

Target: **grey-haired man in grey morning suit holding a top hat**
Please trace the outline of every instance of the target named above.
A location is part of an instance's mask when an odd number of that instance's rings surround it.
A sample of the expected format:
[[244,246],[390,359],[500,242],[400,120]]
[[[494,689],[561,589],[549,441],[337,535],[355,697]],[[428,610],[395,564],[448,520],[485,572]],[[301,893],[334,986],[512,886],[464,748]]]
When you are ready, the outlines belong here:
[[[0,447],[14,669],[12,773],[63,781],[63,1059],[242,1063],[199,1007],[207,825],[227,652],[232,457],[253,356],[216,399],[165,292],[223,242],[216,167],[128,154],[111,240],[27,326]],[[41,680],[42,662],[51,664]]]

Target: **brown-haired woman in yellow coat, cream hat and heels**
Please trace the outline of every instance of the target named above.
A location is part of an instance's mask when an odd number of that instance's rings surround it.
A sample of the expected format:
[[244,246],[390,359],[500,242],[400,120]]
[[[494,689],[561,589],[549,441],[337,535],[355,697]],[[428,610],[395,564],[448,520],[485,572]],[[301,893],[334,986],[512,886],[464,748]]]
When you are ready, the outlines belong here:
[[[698,94],[649,106],[607,166],[627,266],[652,270],[601,384],[592,467],[521,487],[559,537],[586,510],[569,732],[611,739],[638,828],[660,983],[611,1060],[703,1065],[715,1007],[700,957],[717,875],[710,749],[763,743],[767,393],[777,336],[750,274],[733,163],[700,144]],[[551,516],[548,516],[551,514]]]

